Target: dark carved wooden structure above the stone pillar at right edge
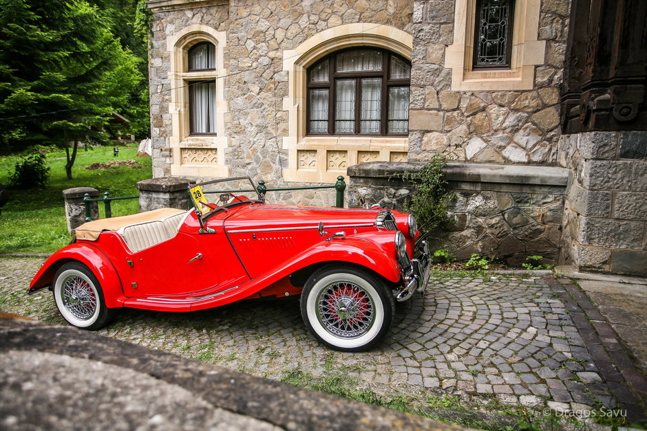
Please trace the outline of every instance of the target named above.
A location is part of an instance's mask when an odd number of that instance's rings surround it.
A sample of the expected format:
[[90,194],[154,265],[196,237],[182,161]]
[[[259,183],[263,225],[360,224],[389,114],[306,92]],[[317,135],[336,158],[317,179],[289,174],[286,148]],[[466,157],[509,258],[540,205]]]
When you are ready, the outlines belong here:
[[647,1],[571,2],[562,130],[647,130]]

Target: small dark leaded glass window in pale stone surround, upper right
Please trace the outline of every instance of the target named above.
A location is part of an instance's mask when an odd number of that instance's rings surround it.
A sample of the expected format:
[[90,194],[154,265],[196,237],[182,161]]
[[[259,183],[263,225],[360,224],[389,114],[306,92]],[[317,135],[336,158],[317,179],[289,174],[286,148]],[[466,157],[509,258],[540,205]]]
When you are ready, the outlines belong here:
[[510,67],[514,0],[477,0],[474,69]]

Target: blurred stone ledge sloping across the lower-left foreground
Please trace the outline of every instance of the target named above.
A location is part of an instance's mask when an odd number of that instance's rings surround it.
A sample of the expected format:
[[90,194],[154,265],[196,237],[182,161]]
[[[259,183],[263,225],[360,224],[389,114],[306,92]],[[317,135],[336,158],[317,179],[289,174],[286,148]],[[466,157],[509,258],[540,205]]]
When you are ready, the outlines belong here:
[[[196,400],[201,399],[211,404],[213,408],[226,410],[242,417],[255,419],[262,423],[270,423],[286,430],[312,430],[312,429],[357,429],[357,430],[460,430],[457,426],[440,423],[407,415],[405,413],[388,410],[386,408],[370,406],[357,401],[350,401],[297,388],[275,382],[269,379],[253,377],[248,374],[232,371],[220,366],[205,364],[185,357],[171,355],[147,349],[142,346],[106,338],[87,331],[72,327],[61,327],[44,324],[34,320],[18,320],[12,316],[0,316],[0,357],[11,353],[29,353],[41,355],[49,353],[68,357],[70,362],[85,360],[98,364],[92,367],[100,371],[103,369],[105,376],[100,372],[94,376],[97,382],[112,382],[110,377],[120,367],[124,375],[140,375],[142,381],[156,379],[161,386],[166,388],[181,388],[188,391]],[[106,366],[101,366],[105,364]],[[89,364],[88,364],[89,365]],[[47,373],[47,364],[39,368]],[[19,367],[14,368],[14,371]],[[73,371],[74,368],[70,367]],[[86,373],[85,368],[78,368],[78,373]],[[70,382],[76,379],[74,373],[69,375]],[[32,381],[37,382],[38,376],[32,376]],[[65,382],[59,382],[65,386]],[[34,385],[36,387],[37,385]],[[54,389],[54,388],[53,388]],[[128,399],[140,402],[147,397],[157,397],[155,390],[146,390],[142,386],[139,390],[110,387],[110,390],[120,390],[121,403],[128,405]],[[10,388],[7,389],[7,391]],[[5,391],[5,392],[7,392]],[[85,401],[84,415],[92,417],[97,428],[109,428],[111,406],[106,406],[96,401],[98,395],[96,387],[88,386],[86,394],[77,394]],[[18,411],[12,415],[21,419],[39,423],[39,415],[33,415],[30,408],[30,396],[33,392],[25,392],[20,386],[13,395],[27,401],[20,404]],[[151,398],[152,399],[152,398]],[[94,401],[93,401],[94,400]],[[75,417],[76,411],[67,397],[49,399],[46,404],[39,404],[41,411],[47,412],[50,419],[59,419],[64,423],[67,418]],[[114,413],[114,411],[112,411]],[[193,409],[178,409],[170,412],[173,419],[191,417]],[[96,414],[93,416],[93,414]],[[103,418],[103,421],[102,421]],[[149,418],[143,418],[145,424]],[[248,429],[247,423],[231,423],[230,429]],[[37,427],[36,427],[37,428]],[[145,428],[145,427],[142,427]],[[191,427],[190,427],[191,428]]]

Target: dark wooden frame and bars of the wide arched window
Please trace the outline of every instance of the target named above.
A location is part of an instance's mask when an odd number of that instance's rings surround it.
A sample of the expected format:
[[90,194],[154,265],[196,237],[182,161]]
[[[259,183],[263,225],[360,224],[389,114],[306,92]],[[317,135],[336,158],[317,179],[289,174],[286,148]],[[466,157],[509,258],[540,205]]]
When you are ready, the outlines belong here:
[[[337,56],[343,52],[360,51],[360,50],[375,50],[382,53],[382,70],[380,71],[359,71],[359,72],[337,72],[336,61]],[[410,60],[403,56],[389,51],[388,49],[378,47],[352,47],[347,49],[340,49],[338,51],[328,54],[321,58],[316,63],[312,64],[306,70],[306,136],[407,136],[409,132],[388,133],[388,103],[389,103],[389,89],[391,87],[411,87],[411,78],[406,79],[389,79],[390,76],[390,59],[392,56],[405,61],[411,65]],[[310,71],[314,69],[321,62],[328,60],[328,81],[327,82],[310,82]],[[335,106],[337,104],[337,94],[335,82],[339,79],[354,79],[355,80],[355,118],[354,129],[352,133],[335,133]],[[381,78],[381,115],[380,115],[380,131],[376,133],[361,133],[361,80],[363,78]],[[312,89],[328,89],[328,133],[311,133],[310,132],[310,90]]]

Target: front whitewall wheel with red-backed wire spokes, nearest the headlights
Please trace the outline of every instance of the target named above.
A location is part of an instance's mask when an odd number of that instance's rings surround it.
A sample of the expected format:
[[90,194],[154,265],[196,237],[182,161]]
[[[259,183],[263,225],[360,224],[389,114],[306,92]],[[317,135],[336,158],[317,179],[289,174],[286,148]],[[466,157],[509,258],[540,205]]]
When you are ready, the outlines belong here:
[[379,343],[391,327],[394,307],[383,280],[351,267],[315,272],[301,294],[306,326],[339,351],[366,351]]

